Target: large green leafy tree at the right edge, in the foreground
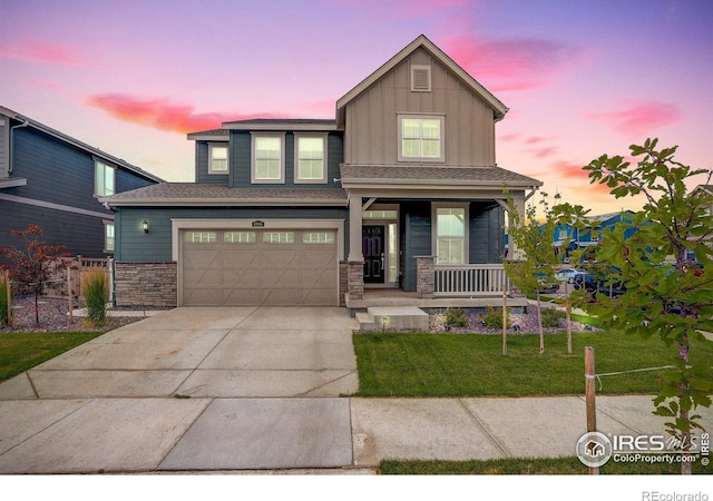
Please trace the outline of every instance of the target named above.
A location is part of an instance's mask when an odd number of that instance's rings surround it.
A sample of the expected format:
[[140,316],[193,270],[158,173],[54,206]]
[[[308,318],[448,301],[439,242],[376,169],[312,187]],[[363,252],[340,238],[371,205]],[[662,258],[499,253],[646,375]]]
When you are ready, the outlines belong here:
[[[707,174],[710,183],[712,171],[675,161],[677,147],[657,149],[657,143],[647,139],[629,147],[632,156],[641,158],[636,166],[622,156],[603,155],[584,167],[590,183],[605,184],[616,198],[643,195],[645,204],[631,223],[600,235],[597,257],[615,271],[608,283],[626,292],[618,298],[598,295],[596,303],[582,306],[608,326],[676,345],[675,372],[662,377],[654,414],[673,420],[666,423],[667,432],[691,454],[691,432],[701,429],[701,416],[693,412],[711,405],[713,386],[711,361],[695,360],[690,344],[692,338],[710,342],[701,331],[713,332],[713,197],[692,195],[686,181]],[[690,267],[690,253],[702,273]],[[690,462],[682,462],[682,473],[691,473]]]

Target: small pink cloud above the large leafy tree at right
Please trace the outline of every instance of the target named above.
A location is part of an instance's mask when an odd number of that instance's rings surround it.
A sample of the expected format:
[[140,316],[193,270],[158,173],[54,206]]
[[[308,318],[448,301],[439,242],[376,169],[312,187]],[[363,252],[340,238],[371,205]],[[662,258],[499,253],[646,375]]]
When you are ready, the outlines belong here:
[[608,124],[626,137],[643,138],[652,129],[676,124],[683,114],[676,105],[661,101],[621,101],[617,111],[589,112],[586,118]]

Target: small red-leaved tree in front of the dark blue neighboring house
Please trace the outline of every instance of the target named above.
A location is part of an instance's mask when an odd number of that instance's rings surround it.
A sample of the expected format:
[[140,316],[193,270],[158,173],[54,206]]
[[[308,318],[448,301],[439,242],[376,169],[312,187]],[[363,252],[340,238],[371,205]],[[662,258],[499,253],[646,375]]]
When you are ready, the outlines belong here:
[[11,263],[8,267],[10,279],[22,284],[25,292],[35,294],[36,325],[40,324],[38,298],[52,274],[48,264],[57,262],[64,250],[61,245],[48,245],[40,240],[42,233],[42,228],[35,224],[28,225],[27,229],[12,229],[10,234],[19,237],[23,247],[0,248],[0,254],[4,254]]

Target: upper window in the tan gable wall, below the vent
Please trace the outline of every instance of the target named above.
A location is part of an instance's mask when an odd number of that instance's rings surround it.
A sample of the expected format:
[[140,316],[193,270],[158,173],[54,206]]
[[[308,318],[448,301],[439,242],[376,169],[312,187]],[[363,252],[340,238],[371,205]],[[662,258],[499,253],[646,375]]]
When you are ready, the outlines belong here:
[[399,161],[446,161],[442,115],[399,115]]

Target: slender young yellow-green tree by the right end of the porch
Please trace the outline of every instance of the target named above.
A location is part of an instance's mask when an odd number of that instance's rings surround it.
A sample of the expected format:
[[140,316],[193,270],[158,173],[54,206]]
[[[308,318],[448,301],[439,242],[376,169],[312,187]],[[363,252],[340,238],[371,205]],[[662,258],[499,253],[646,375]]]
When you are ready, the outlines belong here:
[[537,207],[530,205],[520,215],[512,200],[509,200],[510,224],[508,237],[521,252],[519,256],[509,256],[504,261],[508,278],[525,294],[535,293],[537,298],[537,323],[539,326],[539,353],[545,353],[545,331],[540,304],[543,286],[555,283],[554,266],[557,254],[554,245],[555,224],[550,217],[547,194],[543,193],[540,206],[545,213],[545,223],[537,222]]

